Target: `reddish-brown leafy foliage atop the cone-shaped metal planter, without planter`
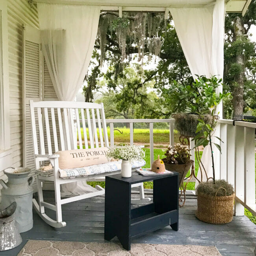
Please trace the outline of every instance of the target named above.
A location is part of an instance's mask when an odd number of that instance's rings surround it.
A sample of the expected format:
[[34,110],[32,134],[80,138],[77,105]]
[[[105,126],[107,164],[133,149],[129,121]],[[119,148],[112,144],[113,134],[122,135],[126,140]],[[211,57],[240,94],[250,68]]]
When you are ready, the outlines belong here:
[[169,164],[184,165],[190,160],[191,154],[188,145],[177,143],[174,147],[171,145],[167,147],[165,156]]

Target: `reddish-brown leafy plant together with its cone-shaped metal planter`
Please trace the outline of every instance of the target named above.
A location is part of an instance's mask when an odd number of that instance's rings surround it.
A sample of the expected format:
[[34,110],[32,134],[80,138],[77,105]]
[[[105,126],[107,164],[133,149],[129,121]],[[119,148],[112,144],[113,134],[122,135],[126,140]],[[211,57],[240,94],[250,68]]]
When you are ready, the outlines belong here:
[[179,187],[182,187],[184,178],[194,161],[190,159],[189,147],[187,144],[177,143],[174,147],[168,146],[165,152],[166,158],[163,158],[165,169],[179,173]]

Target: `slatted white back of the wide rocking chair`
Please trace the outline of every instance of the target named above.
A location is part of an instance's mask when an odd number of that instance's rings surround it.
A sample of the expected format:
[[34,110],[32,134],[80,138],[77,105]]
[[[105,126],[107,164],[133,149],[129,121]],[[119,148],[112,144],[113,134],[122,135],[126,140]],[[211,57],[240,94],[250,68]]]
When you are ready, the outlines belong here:
[[103,104],[30,100],[30,110],[35,154],[109,146]]

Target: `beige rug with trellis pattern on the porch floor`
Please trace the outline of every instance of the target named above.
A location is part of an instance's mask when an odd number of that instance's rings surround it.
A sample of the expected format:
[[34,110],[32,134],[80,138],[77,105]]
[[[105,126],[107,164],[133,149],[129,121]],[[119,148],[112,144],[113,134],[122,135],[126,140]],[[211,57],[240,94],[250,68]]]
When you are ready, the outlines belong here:
[[81,243],[28,240],[18,256],[220,256],[215,246],[153,245],[134,243],[124,250],[120,243]]

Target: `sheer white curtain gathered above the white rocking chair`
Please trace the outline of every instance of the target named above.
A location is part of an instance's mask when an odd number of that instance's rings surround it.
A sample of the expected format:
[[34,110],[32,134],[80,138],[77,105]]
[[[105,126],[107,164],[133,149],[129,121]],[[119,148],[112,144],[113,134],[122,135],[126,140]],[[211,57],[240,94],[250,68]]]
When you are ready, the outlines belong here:
[[74,100],[95,45],[100,6],[37,3],[42,51],[59,100]]

